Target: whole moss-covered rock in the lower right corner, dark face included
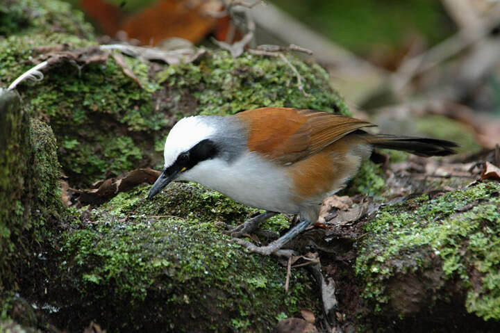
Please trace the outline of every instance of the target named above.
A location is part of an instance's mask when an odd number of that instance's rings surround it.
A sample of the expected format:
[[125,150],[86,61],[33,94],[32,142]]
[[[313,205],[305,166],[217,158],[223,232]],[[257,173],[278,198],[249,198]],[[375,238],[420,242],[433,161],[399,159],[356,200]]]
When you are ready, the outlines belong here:
[[376,314],[500,327],[498,182],[387,206],[364,228],[356,275]]

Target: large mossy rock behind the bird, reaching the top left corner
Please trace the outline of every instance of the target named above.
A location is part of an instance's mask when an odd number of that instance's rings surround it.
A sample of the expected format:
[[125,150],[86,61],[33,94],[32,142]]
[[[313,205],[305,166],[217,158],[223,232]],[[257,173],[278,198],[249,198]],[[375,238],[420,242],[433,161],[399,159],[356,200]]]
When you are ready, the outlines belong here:
[[[24,25],[31,26],[22,30],[26,33],[0,40],[0,86],[8,86],[33,66],[37,47],[96,45],[92,29],[85,28],[83,16],[74,15],[67,3],[24,0],[0,10],[10,17],[11,25],[27,22]],[[50,10],[47,19],[38,18]],[[69,15],[74,28],[66,24]],[[51,17],[61,17],[60,29]],[[348,113],[330,87],[326,71],[294,56],[288,59],[303,77],[307,95],[278,57],[233,58],[226,51],[206,50],[196,63],[172,66],[124,58],[140,86],[110,57],[104,64],[80,67],[60,63],[46,71],[43,81],[18,87],[26,106],[51,125],[60,145],[60,163],[74,187],[90,186],[134,168],[160,167],[165,137],[186,115],[228,115],[262,106]]]

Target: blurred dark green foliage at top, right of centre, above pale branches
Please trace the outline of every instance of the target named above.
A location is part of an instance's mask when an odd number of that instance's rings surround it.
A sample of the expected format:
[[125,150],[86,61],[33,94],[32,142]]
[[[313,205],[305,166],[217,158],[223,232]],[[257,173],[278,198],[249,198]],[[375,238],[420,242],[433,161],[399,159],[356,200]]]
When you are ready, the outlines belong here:
[[270,0],[334,42],[358,53],[393,48],[411,35],[430,44],[451,33],[435,0]]

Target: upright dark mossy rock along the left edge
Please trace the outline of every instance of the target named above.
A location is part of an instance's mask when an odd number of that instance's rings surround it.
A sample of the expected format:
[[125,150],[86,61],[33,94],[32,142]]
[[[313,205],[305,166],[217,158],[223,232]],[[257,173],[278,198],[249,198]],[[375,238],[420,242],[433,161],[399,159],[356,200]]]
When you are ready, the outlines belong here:
[[19,95],[0,90],[0,291],[51,234],[62,211],[60,165],[50,127],[31,120]]

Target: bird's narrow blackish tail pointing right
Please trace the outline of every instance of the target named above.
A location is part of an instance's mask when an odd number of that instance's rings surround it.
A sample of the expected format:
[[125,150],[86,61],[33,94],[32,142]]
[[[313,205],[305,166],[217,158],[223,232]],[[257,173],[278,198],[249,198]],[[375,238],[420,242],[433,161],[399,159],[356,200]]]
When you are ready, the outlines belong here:
[[367,137],[369,143],[376,148],[403,150],[418,156],[447,156],[456,154],[456,143],[447,140],[418,138],[415,136],[393,136],[375,134]]

